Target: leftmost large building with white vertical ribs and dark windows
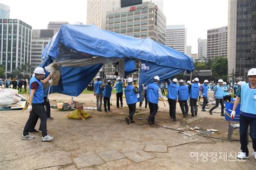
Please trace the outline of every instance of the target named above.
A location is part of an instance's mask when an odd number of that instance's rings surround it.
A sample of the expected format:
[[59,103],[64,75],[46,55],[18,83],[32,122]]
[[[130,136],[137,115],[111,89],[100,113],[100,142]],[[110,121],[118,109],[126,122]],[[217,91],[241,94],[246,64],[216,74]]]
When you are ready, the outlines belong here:
[[30,64],[32,27],[19,19],[0,19],[0,33],[0,64],[6,74]]

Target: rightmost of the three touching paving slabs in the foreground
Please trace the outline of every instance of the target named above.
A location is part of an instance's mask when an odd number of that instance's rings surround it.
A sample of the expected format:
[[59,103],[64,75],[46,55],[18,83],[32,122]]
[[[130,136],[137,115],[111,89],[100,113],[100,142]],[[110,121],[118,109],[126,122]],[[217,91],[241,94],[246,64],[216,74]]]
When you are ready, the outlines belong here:
[[123,152],[123,154],[135,163],[139,163],[154,158],[153,155],[146,153],[143,150],[127,151]]

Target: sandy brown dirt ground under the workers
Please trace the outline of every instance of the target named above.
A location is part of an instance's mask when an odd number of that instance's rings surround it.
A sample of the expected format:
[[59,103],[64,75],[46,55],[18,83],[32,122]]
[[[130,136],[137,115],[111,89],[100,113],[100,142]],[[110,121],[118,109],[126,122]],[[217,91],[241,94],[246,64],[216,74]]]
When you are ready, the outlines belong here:
[[[51,104],[70,100],[70,96],[52,94]],[[74,100],[94,107],[96,99],[92,94],[82,94]],[[156,116],[158,125],[148,125],[145,121],[149,108],[139,108],[137,104],[134,120],[136,123],[127,125],[124,121],[128,107],[116,108],[116,96],[111,97],[111,112],[86,110],[92,116],[85,121],[68,119],[69,111],[51,110],[52,121],[47,122],[48,133],[54,136],[51,142],[42,142],[41,133],[33,133],[36,139],[22,140],[21,135],[28,119],[28,111],[0,111],[0,169],[77,169],[74,158],[97,151],[116,149],[125,151],[143,150],[146,144],[167,145],[168,153],[147,152],[153,159],[135,163],[129,158],[109,161],[102,165],[82,169],[255,169],[256,160],[251,156],[246,161],[235,159],[240,152],[239,141],[227,141],[228,122],[220,116],[220,109],[213,115],[201,112],[198,116],[183,118],[177,104],[177,122],[169,116],[169,105],[164,107],[159,102],[159,112]],[[212,107],[212,106],[210,106]],[[208,110],[208,109],[207,109]],[[189,112],[190,114],[190,112]],[[199,130],[217,129],[218,132],[206,138],[203,136],[186,136],[172,130],[186,127]],[[37,123],[36,129],[39,127]],[[233,139],[239,139],[239,131],[235,130]],[[188,144],[187,144],[188,143]],[[249,145],[253,152],[252,143]],[[218,155],[215,159],[212,153]],[[224,155],[220,157],[220,155]],[[228,157],[230,155],[231,157]],[[227,158],[228,157],[228,158]],[[233,158],[232,158],[233,157]]]

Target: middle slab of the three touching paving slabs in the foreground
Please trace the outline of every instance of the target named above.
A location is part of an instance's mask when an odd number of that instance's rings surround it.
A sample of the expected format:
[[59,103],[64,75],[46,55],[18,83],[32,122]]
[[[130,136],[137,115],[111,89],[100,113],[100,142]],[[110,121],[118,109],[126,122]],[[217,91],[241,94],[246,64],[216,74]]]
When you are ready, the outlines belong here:
[[96,153],[106,162],[125,158],[125,155],[118,150],[100,151]]

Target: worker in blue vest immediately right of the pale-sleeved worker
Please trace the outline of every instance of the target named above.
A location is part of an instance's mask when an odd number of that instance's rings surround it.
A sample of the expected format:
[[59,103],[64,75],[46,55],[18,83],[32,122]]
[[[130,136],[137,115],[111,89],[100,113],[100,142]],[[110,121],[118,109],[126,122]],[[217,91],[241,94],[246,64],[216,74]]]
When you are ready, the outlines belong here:
[[177,83],[178,80],[176,78],[172,80],[172,83],[169,84],[168,94],[166,96],[169,103],[169,115],[173,122],[176,121],[176,103],[179,91],[179,86]]

